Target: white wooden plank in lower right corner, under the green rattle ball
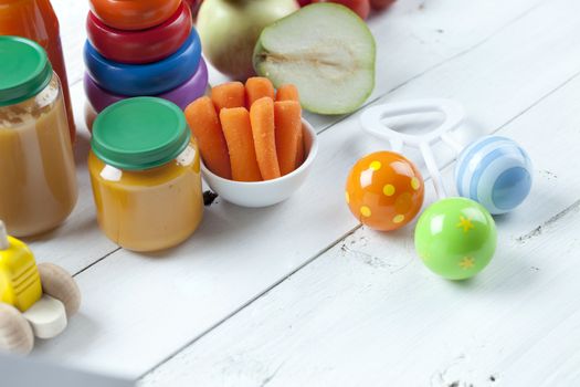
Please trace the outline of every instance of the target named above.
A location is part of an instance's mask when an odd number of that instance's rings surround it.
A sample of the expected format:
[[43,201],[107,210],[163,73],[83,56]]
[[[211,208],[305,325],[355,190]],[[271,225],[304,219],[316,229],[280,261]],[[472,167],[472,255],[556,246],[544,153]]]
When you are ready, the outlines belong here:
[[535,186],[496,218],[496,257],[475,279],[429,272],[413,228],[361,228],[140,385],[578,385],[580,156],[565,144],[580,144],[579,93],[574,77],[500,130],[530,153]]

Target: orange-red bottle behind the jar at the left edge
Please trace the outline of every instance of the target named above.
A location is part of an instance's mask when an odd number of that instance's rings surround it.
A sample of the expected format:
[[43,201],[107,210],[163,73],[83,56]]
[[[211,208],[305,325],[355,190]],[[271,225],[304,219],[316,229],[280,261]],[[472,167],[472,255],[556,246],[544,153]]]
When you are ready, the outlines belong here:
[[50,0],[0,0],[0,35],[28,38],[46,50],[54,72],[61,79],[71,140],[74,142],[76,128],[64,66],[59,19]]

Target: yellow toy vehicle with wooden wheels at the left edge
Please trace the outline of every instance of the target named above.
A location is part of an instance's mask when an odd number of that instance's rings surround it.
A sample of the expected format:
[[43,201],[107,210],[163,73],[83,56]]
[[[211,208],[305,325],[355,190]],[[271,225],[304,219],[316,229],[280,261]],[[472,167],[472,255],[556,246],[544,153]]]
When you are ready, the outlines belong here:
[[41,263],[0,221],[0,349],[21,355],[34,347],[34,336],[52,338],[78,311],[81,292],[64,269]]

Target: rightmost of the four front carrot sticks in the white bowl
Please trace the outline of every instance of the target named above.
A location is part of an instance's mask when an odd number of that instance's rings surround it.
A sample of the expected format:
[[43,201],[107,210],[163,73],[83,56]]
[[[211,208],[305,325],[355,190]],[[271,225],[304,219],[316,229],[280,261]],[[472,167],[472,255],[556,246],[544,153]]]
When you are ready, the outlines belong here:
[[300,104],[296,101],[278,101],[274,104],[276,153],[282,176],[296,169],[298,146],[304,149],[304,145],[300,143]]

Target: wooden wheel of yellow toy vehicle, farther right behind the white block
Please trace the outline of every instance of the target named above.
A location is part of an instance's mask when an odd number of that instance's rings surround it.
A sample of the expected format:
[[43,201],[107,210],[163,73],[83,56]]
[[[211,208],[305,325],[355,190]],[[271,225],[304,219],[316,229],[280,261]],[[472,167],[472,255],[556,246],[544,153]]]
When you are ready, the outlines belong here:
[[39,273],[43,292],[61,301],[68,317],[78,312],[81,291],[66,270],[54,263],[41,263]]

